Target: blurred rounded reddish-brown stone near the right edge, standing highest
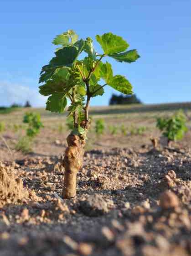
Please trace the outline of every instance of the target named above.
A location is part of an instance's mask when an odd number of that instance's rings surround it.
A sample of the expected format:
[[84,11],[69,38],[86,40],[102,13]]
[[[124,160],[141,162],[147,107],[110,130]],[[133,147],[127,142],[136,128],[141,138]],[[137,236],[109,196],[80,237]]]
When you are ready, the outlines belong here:
[[160,206],[164,210],[176,208],[179,204],[179,199],[174,192],[167,190],[160,195]]

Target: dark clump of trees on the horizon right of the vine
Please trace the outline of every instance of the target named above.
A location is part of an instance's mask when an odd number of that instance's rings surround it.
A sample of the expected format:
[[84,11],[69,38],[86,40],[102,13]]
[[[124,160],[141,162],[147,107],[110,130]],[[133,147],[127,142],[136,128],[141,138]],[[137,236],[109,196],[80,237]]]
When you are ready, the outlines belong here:
[[109,105],[126,105],[126,104],[141,104],[142,102],[135,94],[132,95],[116,95],[112,94]]

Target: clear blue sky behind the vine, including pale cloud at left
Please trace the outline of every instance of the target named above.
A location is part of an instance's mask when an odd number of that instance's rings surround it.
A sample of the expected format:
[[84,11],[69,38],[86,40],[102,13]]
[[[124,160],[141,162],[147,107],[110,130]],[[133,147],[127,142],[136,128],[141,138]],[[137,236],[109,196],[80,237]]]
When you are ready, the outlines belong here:
[[[111,62],[143,102],[191,101],[190,0],[1,0],[0,24],[0,105],[44,106],[39,73],[67,29],[84,39],[113,32],[137,48],[137,62]],[[108,104],[114,90],[105,91],[92,105]]]

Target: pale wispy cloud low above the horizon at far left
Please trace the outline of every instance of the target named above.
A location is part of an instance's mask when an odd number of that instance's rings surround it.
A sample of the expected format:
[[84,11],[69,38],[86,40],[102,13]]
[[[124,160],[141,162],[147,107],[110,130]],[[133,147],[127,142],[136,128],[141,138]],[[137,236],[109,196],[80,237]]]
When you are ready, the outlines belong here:
[[32,107],[44,107],[46,97],[41,96],[38,88],[17,84],[10,81],[0,81],[0,106],[10,106],[13,103],[25,104],[30,101]]

